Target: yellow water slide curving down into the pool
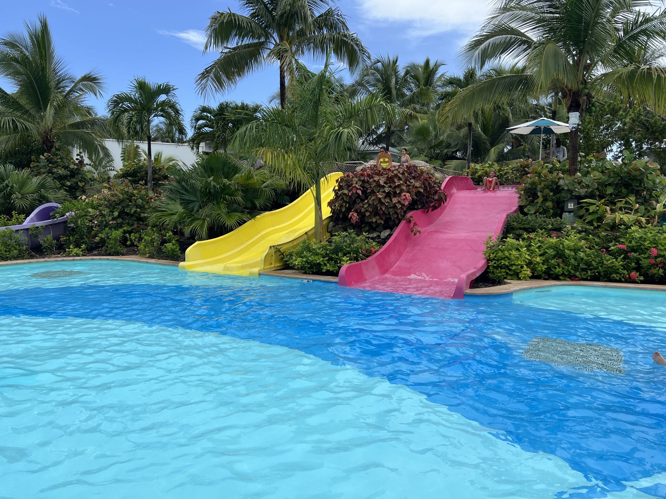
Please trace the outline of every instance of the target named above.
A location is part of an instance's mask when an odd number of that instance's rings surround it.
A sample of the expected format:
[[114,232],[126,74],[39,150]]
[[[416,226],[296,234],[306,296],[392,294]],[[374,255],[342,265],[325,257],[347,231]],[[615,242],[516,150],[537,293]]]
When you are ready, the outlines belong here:
[[[322,178],[322,215],[330,216],[328,202],[341,173]],[[313,188],[314,189],[314,188]],[[296,201],[273,212],[262,213],[229,234],[198,241],[185,251],[178,268],[233,275],[258,275],[260,270],[282,266],[275,250],[312,235],[314,200],[312,189]]]

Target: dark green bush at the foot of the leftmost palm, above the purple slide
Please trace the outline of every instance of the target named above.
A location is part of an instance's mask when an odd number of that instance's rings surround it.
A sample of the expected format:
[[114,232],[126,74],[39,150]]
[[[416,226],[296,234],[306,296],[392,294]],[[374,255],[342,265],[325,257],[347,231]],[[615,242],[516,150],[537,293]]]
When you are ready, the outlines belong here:
[[45,152],[39,157],[34,156],[30,172],[33,176],[49,176],[57,190],[63,190],[75,199],[83,196],[86,188],[97,181],[83,158],[77,155],[75,159],[69,151]]

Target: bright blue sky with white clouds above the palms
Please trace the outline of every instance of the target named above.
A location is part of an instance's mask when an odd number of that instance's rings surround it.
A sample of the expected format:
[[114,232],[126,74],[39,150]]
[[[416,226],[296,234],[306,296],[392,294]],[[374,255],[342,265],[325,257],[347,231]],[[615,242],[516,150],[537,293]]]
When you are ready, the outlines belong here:
[[[458,71],[456,54],[488,12],[486,0],[340,0],[372,55],[398,54],[402,63],[440,59]],[[56,46],[71,71],[81,75],[96,68],[107,80],[105,96],[125,90],[135,76],[168,81],[189,119],[204,100],[194,79],[214,54],[202,55],[202,32],[216,10],[238,9],[237,0],[0,0],[0,34],[23,29],[45,13]],[[311,62],[311,65],[316,63]],[[11,90],[6,82],[0,86]],[[270,67],[256,73],[224,98],[267,102],[278,86]],[[105,100],[94,102],[103,112]]]

